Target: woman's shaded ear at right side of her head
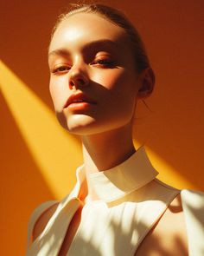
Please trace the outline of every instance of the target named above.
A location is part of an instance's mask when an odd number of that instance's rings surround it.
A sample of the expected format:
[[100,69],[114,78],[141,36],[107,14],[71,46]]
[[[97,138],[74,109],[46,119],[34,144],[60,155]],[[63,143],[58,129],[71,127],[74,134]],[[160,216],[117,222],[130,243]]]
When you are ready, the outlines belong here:
[[140,89],[137,93],[138,99],[144,99],[151,95],[155,87],[155,74],[154,71],[150,68],[144,69],[140,75]]

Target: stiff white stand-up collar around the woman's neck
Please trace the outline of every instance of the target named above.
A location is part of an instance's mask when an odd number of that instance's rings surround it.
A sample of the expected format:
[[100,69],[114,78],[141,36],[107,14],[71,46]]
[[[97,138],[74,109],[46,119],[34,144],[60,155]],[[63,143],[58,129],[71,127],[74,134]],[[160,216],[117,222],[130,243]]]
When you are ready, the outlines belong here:
[[[152,167],[150,160],[142,147],[118,166],[103,172],[88,174],[88,176],[91,181],[91,186],[96,194],[98,194],[99,199],[104,200],[105,202],[112,202],[143,187],[154,180],[157,174],[158,172]],[[77,184],[69,198],[78,197],[80,184],[86,179],[84,165],[78,167],[76,176]]]

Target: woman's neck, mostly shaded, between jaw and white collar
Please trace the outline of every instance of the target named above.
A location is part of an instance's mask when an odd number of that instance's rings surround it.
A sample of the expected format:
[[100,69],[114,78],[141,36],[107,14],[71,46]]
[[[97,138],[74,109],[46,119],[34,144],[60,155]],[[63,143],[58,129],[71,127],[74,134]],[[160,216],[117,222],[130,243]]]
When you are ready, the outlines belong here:
[[131,125],[97,135],[82,137],[87,173],[105,171],[125,161],[135,152]]

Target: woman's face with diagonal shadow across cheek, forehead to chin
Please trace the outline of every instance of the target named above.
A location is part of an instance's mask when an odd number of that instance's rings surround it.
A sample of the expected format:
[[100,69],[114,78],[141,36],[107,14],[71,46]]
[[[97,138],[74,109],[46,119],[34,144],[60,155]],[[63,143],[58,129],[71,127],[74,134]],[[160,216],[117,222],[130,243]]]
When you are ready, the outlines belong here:
[[124,30],[96,14],[61,22],[50,43],[50,94],[61,125],[92,135],[131,123],[140,87]]

